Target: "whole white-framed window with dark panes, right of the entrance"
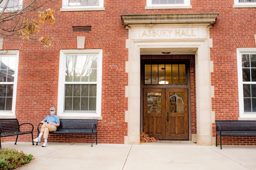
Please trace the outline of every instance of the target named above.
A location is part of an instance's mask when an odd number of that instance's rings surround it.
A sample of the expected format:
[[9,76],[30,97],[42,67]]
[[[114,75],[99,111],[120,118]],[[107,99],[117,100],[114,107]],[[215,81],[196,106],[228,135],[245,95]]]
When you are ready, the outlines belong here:
[[256,117],[256,48],[237,49],[240,117]]

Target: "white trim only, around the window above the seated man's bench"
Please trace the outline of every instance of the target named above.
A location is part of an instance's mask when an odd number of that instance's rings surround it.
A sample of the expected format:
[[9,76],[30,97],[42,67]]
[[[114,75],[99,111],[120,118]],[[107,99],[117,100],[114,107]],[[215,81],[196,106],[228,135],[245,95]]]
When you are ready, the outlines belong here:
[[[97,58],[97,100],[96,113],[93,112],[64,112],[64,82],[65,82],[65,56],[67,54],[98,54]],[[101,117],[101,91],[102,91],[102,49],[87,49],[87,50],[60,50],[60,65],[59,65],[59,89],[58,89],[58,116],[72,117]]]

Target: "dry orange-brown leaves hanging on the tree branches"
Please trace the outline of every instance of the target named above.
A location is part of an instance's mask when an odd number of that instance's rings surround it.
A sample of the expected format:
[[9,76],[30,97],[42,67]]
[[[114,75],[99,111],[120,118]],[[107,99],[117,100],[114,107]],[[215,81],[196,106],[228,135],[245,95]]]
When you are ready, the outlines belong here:
[[[54,18],[54,9],[46,9],[46,12],[41,12],[38,11],[38,17],[39,20],[34,20],[33,22],[29,23],[27,18],[22,19],[22,24],[23,24],[23,29],[18,31],[19,36],[21,36],[23,39],[29,39],[29,36],[33,34],[35,31],[39,32],[40,27],[39,27],[39,22],[44,24],[44,21],[48,21],[50,24],[55,23],[55,18]],[[49,48],[52,46],[51,42],[53,38],[49,38],[48,36],[42,36],[41,38],[38,39],[39,42],[45,44],[46,48]]]

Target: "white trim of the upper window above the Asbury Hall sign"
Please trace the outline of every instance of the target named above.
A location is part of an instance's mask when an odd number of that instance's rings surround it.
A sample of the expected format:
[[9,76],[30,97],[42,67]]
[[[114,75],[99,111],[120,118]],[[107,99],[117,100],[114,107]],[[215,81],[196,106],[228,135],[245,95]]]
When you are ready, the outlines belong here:
[[152,0],[147,0],[145,9],[185,9],[192,8],[190,0],[184,0],[184,4],[152,4]]

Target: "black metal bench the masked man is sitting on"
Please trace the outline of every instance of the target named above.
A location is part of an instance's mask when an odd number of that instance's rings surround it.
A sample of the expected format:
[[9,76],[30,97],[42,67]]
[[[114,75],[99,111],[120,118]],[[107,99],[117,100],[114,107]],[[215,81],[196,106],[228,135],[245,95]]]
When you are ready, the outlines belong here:
[[[93,134],[96,135],[97,144],[97,119],[60,119],[60,126],[52,134],[91,134],[91,146],[93,146]],[[37,137],[40,133],[39,123]],[[37,144],[36,144],[37,145]]]

